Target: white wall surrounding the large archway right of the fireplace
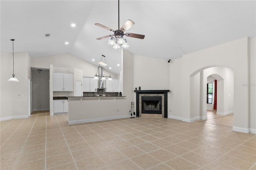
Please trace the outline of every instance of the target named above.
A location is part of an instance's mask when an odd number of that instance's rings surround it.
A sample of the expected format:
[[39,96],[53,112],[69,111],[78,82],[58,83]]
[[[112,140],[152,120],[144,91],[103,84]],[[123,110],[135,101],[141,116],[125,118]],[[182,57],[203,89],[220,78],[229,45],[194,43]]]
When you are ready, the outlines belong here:
[[[190,77],[204,69],[224,66],[234,70],[234,127],[233,129],[240,132],[249,132],[249,110],[248,110],[248,87],[242,86],[243,83],[248,83],[248,38],[241,38],[232,42],[217,45],[208,49],[197,51],[184,55],[182,62],[175,67],[178,69],[171,69],[171,76],[175,77],[179,67],[182,67],[182,81],[179,78],[172,79],[177,83],[176,89],[182,88],[182,117],[184,121],[193,121],[190,112],[191,103],[187,102],[190,97]],[[250,46],[251,48],[255,48]],[[178,59],[180,61],[180,59]],[[175,61],[173,61],[174,65]],[[171,67],[173,66],[171,65]],[[255,67],[255,66],[254,66]],[[254,73],[255,74],[255,73]],[[174,91],[172,93],[174,93]],[[176,99],[174,99],[176,100]],[[176,108],[177,105],[170,103],[171,108]],[[177,109],[178,110],[178,109]],[[178,113],[176,113],[178,114]],[[255,115],[255,113],[253,114]],[[176,116],[176,115],[174,115]],[[255,123],[255,121],[253,121]]]

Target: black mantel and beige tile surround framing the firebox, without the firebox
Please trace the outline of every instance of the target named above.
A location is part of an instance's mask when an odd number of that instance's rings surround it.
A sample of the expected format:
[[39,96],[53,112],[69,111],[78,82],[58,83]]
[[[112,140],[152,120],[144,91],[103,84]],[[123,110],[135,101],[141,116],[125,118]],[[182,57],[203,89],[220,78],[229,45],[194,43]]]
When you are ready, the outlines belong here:
[[167,118],[167,93],[170,90],[134,90],[136,92],[136,117],[154,117],[158,116],[155,114],[144,114],[142,113],[142,96],[161,96],[162,97],[162,115],[159,115],[162,118]]

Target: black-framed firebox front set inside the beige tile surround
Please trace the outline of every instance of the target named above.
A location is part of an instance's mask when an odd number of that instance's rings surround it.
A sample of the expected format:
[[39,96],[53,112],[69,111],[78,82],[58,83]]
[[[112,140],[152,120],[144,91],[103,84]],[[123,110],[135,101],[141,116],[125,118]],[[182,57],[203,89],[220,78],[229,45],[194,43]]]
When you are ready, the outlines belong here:
[[142,96],[142,112],[162,114],[162,97],[161,96]]

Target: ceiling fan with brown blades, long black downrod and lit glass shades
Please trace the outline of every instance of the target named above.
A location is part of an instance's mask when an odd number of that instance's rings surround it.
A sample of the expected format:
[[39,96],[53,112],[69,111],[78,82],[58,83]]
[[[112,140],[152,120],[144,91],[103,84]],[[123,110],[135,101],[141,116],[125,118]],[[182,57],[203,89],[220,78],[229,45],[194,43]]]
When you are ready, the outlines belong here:
[[102,24],[96,23],[95,24],[96,26],[105,28],[106,30],[110,30],[114,33],[114,34],[110,34],[108,36],[96,38],[96,40],[102,40],[104,38],[111,37],[108,44],[113,45],[113,48],[119,49],[120,45],[122,47],[129,47],[129,45],[126,42],[126,39],[124,39],[124,36],[132,37],[132,38],[140,38],[140,39],[144,39],[144,37],[145,37],[144,35],[141,35],[141,34],[133,34],[133,33],[129,33],[129,32],[124,33],[129,28],[131,28],[134,24],[135,23],[132,20],[128,20],[124,23],[124,25],[122,27],[119,26],[119,0],[118,0],[118,28],[119,28],[119,30],[114,30],[114,29],[108,28]]

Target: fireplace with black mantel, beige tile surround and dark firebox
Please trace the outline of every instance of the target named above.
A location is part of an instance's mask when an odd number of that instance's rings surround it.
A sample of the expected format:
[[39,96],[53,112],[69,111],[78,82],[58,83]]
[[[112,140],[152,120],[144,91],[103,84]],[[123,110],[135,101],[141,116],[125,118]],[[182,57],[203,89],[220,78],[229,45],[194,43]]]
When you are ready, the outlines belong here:
[[167,93],[170,90],[134,90],[134,92],[136,92],[136,117],[143,117],[142,115],[168,117]]

